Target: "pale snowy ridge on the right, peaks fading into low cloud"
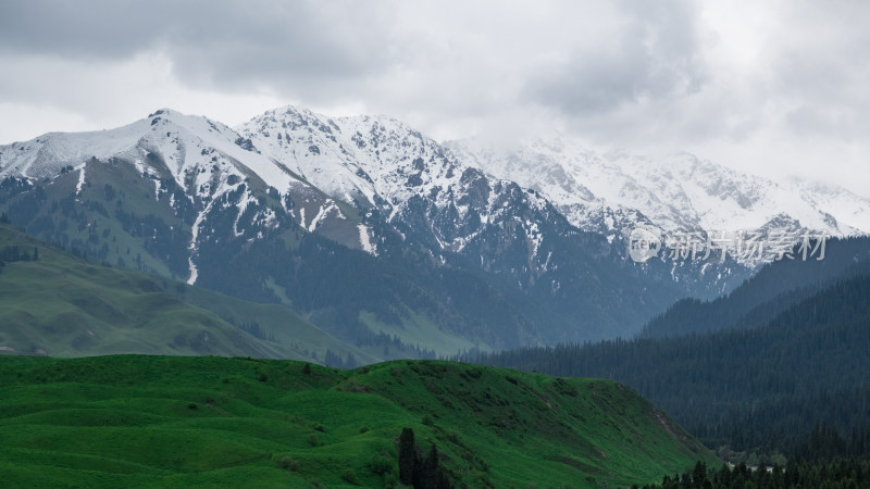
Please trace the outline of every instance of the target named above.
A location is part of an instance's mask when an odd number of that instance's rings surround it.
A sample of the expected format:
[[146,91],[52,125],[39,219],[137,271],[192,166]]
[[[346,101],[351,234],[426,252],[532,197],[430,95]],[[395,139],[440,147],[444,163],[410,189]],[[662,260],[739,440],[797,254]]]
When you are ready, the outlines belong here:
[[563,137],[494,149],[448,143],[490,175],[539,191],[581,229],[625,235],[638,224],[669,233],[770,228],[849,236],[870,233],[870,200],[834,186],[772,181],[688,153],[647,159],[600,154]]

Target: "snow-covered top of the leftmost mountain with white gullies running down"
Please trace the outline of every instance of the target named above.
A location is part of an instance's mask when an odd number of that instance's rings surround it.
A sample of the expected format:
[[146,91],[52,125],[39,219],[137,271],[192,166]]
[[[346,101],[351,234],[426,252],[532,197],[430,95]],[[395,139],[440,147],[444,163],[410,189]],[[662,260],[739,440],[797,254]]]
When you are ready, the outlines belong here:
[[[235,237],[243,236],[244,227],[249,225],[276,227],[276,209],[263,205],[262,197],[258,197],[266,188],[276,189],[281,196],[295,196],[320,210],[337,211],[332,199],[247,145],[249,141],[222,123],[161,109],[116,129],[50,133],[27,142],[2,146],[0,178],[46,183],[72,173],[77,176],[78,195],[91,171],[104,171],[107,165],[135,170],[150,183],[154,201],[165,200],[176,216],[187,217],[184,224],[189,227],[190,238],[184,254],[188,255],[187,280],[194,284],[198,278],[200,231],[209,214],[226,213],[226,208],[233,205]],[[290,201],[279,201],[287,211]],[[336,215],[344,220],[340,211]],[[243,216],[245,221],[240,222]],[[319,217],[312,217],[309,227],[313,228]]]

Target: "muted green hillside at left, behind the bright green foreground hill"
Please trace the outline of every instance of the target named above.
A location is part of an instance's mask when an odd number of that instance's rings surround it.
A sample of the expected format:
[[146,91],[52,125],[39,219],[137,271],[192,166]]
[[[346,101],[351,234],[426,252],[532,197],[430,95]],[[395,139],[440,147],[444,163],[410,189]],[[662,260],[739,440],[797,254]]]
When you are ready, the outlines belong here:
[[[330,348],[362,361],[376,360],[287,308],[248,303],[133,271],[94,265],[0,224],[0,249],[11,246],[28,253],[36,247],[39,260],[8,263],[0,271],[2,352],[307,360],[312,353],[323,359]],[[225,319],[257,321],[277,342],[258,339]]]

